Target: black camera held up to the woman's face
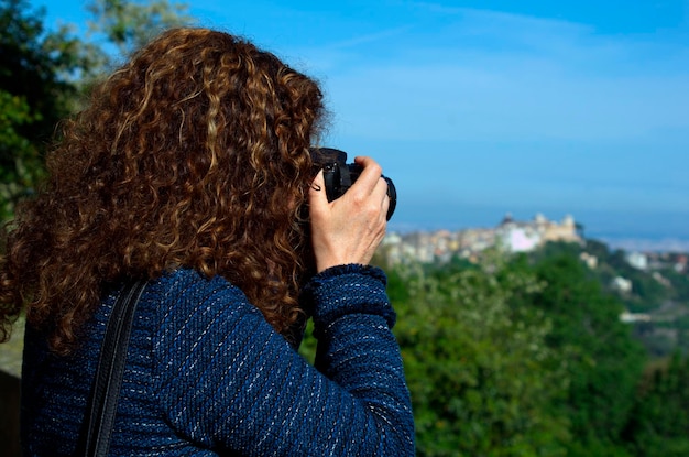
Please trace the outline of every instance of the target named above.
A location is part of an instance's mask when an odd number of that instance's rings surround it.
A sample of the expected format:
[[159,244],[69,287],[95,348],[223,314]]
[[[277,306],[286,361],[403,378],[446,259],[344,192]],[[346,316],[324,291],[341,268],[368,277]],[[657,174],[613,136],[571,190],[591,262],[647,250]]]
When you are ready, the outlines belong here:
[[[332,148],[311,148],[309,151],[314,164],[318,170],[322,168],[328,202],[341,197],[361,174],[362,168],[360,165],[347,163],[347,153],[344,151]],[[390,206],[387,207],[386,218],[390,220],[397,205],[397,191],[391,178],[382,177],[387,182]]]

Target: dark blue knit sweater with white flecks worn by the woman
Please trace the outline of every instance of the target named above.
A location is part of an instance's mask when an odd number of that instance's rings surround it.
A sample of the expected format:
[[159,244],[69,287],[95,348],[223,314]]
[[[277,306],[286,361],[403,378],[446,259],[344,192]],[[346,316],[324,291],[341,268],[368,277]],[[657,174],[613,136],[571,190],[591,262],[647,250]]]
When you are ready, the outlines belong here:
[[[74,451],[117,293],[103,300],[74,356],[51,355],[41,335],[26,331],[25,455]],[[182,269],[151,282],[136,308],[111,455],[414,455],[382,271],[327,270],[305,301],[316,367],[222,278]]]

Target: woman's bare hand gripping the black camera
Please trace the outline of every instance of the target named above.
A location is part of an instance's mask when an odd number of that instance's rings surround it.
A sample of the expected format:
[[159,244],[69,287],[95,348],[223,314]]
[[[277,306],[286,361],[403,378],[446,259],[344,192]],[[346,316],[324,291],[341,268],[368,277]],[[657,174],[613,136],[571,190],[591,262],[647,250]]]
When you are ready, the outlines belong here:
[[390,199],[381,166],[371,157],[356,157],[354,162],[363,170],[340,198],[328,202],[322,171],[309,192],[311,243],[318,272],[348,263],[368,264],[385,236]]

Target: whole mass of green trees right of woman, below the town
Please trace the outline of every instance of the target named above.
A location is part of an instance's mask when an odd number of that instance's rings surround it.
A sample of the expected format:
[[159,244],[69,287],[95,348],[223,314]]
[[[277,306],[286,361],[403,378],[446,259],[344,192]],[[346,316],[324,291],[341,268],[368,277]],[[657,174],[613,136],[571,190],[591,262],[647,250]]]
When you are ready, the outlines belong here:
[[419,455],[686,455],[688,362],[643,381],[623,303],[579,254],[386,268]]

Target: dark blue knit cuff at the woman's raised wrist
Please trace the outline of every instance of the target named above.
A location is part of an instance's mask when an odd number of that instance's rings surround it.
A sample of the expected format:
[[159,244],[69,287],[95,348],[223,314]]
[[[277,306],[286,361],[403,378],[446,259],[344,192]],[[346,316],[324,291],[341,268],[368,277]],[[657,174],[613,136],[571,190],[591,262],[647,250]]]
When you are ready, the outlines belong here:
[[313,306],[317,327],[328,326],[348,314],[372,314],[382,316],[392,328],[396,315],[387,300],[385,285],[386,276],[380,268],[348,264],[318,273],[304,293],[306,302]]

